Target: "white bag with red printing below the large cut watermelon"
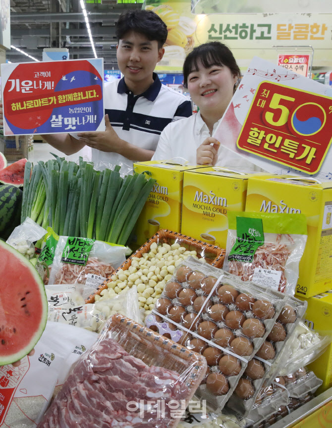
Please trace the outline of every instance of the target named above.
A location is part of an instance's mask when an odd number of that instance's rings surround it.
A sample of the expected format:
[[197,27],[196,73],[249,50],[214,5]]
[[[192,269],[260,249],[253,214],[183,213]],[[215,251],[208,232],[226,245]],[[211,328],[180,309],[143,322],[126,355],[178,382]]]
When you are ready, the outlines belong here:
[[0,427],[36,427],[55,384],[97,339],[95,333],[48,322],[32,357],[0,367]]

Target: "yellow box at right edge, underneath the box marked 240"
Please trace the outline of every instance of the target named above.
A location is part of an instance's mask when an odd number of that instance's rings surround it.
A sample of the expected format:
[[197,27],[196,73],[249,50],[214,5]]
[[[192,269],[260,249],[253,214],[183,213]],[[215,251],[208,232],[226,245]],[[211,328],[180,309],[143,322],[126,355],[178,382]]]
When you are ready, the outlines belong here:
[[[308,302],[305,314],[305,323],[311,329],[322,334],[331,334],[332,326],[332,290],[313,296],[309,299],[300,298]],[[330,344],[317,360],[309,365],[316,376],[323,380],[317,393],[325,391],[332,386],[332,344]]]

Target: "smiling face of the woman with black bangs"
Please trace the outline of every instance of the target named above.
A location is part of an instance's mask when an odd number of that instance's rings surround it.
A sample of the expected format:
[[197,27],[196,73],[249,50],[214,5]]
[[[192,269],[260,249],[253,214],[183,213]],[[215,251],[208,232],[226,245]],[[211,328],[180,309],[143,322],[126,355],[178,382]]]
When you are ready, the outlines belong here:
[[222,116],[232,96],[237,76],[225,65],[211,65],[205,68],[198,63],[198,69],[188,75],[188,90],[191,99],[202,115]]

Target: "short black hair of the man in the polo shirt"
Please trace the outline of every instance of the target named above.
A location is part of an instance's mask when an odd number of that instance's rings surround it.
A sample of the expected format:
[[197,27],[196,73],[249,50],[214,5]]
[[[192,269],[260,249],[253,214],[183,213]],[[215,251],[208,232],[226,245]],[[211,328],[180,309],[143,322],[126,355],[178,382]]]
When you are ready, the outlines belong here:
[[130,9],[121,13],[115,26],[117,41],[128,31],[144,34],[149,40],[156,40],[162,48],[167,39],[165,22],[152,10]]

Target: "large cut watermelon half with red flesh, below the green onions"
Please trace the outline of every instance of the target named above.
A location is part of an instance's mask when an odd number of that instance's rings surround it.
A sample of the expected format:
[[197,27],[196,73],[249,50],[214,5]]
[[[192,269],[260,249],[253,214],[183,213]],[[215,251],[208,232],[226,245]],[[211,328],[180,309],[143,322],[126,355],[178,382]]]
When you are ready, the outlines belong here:
[[34,266],[2,241],[0,278],[0,366],[4,366],[34,348],[46,326],[48,303]]

